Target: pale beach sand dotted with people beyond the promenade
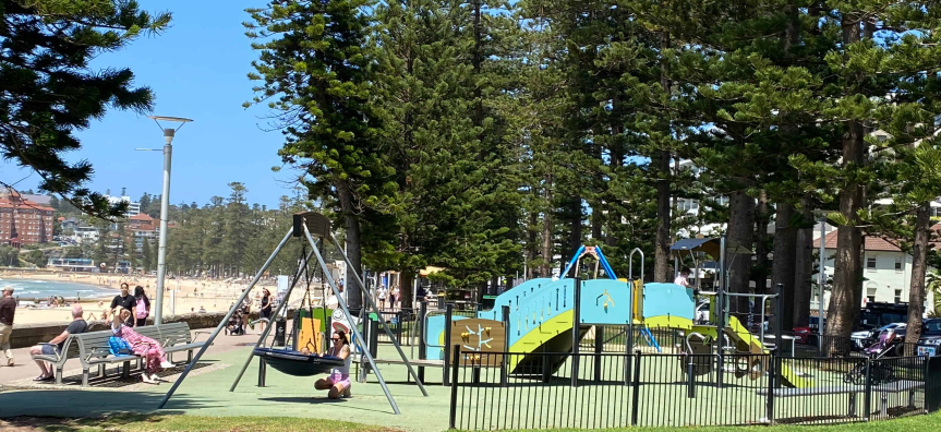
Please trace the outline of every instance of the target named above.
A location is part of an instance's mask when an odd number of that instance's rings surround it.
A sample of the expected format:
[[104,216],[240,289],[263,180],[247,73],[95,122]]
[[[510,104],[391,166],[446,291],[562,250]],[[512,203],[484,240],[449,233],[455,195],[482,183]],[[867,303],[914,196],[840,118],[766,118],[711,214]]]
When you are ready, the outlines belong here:
[[[156,277],[136,277],[128,275],[99,275],[87,273],[34,273],[34,272],[11,272],[2,273],[4,279],[33,279],[33,280],[57,280],[57,281],[74,281],[76,284],[86,284],[102,288],[119,289],[121,283],[126,281],[131,286],[133,293],[134,287],[142,286],[147,292],[147,298],[150,299],[150,316],[154,316],[154,302],[156,301]],[[227,312],[232,303],[239,298],[242,290],[248,287],[251,280],[217,280],[217,279],[167,279],[166,291],[164,292],[164,315],[173,313],[191,313],[198,312],[204,308],[206,312]],[[252,290],[251,299],[254,301],[253,310],[257,310],[261,305],[262,289],[266,287],[273,295],[276,292],[276,281],[273,279],[263,279],[258,281]],[[170,291],[174,291],[171,295]],[[300,291],[300,292],[299,292]],[[302,290],[295,289],[291,295],[291,300],[297,301],[303,295]],[[14,297],[16,293],[14,292]],[[319,297],[319,296],[316,296]],[[173,302],[176,298],[176,304]],[[67,298],[69,307],[47,308],[43,301],[39,308],[27,308],[20,304],[16,308],[16,315],[13,320],[14,324],[39,324],[39,323],[69,323],[72,321],[71,304],[75,298]],[[23,301],[22,303],[26,303]],[[86,320],[98,320],[101,312],[111,305],[111,298],[94,299],[80,301],[85,310]]]

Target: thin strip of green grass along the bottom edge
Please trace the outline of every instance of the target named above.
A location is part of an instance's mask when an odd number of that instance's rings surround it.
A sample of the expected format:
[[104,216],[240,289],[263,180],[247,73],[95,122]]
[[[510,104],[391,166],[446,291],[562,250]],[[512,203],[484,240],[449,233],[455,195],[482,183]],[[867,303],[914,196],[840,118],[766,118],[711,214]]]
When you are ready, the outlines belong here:
[[[776,427],[726,427],[726,428],[696,428],[697,432],[735,431],[735,432],[882,432],[882,431],[931,431],[941,428],[941,413],[930,416],[914,416],[890,421],[873,421],[869,423],[852,423],[837,425],[776,425]],[[691,431],[693,428],[636,428],[643,431]],[[17,432],[98,432],[98,431],[128,431],[128,432],[243,432],[263,430],[285,431],[310,431],[310,432],[337,432],[337,431],[364,431],[364,432],[393,432],[395,424],[389,428],[350,423],[333,420],[317,420],[303,418],[278,418],[278,417],[202,417],[202,416],[144,416],[121,415],[96,419],[56,419],[17,417],[0,420],[0,430]],[[576,432],[577,429],[548,429],[544,432]],[[605,431],[605,430],[600,430]],[[607,430],[612,431],[612,430]]]

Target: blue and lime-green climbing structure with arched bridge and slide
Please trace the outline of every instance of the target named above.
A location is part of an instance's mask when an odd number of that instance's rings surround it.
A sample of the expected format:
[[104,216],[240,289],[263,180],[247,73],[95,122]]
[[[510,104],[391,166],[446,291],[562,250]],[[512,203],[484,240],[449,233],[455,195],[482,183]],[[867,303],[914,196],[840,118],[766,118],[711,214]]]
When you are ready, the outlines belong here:
[[[702,239],[696,240],[700,240],[696,245],[719,247],[716,252],[720,255],[720,265],[724,267],[724,239],[715,244],[701,241]],[[691,249],[684,250],[692,253]],[[630,353],[641,348],[635,346],[635,335],[638,335],[641,338],[639,341],[643,343],[648,350],[686,355],[679,364],[686,373],[703,375],[715,372],[719,385],[722,385],[726,372],[734,373],[736,377],[749,376],[751,380],[767,373],[769,364],[764,355],[776,347],[762,343],[768,337],[773,337],[765,335],[763,322],[768,316],[767,309],[772,302],[777,303],[775,300],[779,295],[726,292],[721,279],[720,288],[715,291],[675,284],[643,284],[642,266],[640,277],[634,278],[635,253],[640,253],[641,263],[643,262],[640,250],[631,252],[628,278],[616,277],[600,249],[582,247],[565,267],[562,278],[530,279],[497,296],[491,310],[479,311],[473,317],[458,316],[449,312],[430,314],[422,322],[422,359],[439,361],[447,372],[453,362],[450,351],[455,345],[461,346],[461,364],[480,358],[481,352],[511,352],[515,356],[509,357],[506,364],[498,364],[502,373],[511,376],[536,376],[546,371],[535,360],[536,356],[527,355],[578,355],[579,343],[588,335],[594,339],[606,339],[602,345],[608,350],[620,347],[619,352]],[[595,259],[594,276],[599,276],[603,269],[605,277],[590,280],[566,277],[572,269],[578,272],[587,256]],[[760,310],[755,313],[761,323],[757,334],[728,312],[731,301],[737,298],[746,298]],[[697,320],[697,305],[702,307],[705,303],[709,304],[708,317]],[[774,315],[780,316],[780,313]],[[462,325],[467,320],[473,320],[474,325]],[[504,344],[473,345],[467,344],[467,340],[451,344],[455,333],[471,341],[480,340],[482,336],[476,331],[478,327],[491,328],[491,332],[502,328],[505,332]],[[611,335],[602,331],[605,327],[622,329]],[[775,332],[781,329],[781,325],[773,327]],[[674,338],[676,340],[664,344],[663,340],[658,340],[652,329],[658,329],[660,332],[656,333],[661,334],[664,329],[672,331],[677,336]],[[774,340],[781,340],[780,335]],[[614,344],[611,344],[612,341]],[[726,356],[734,359],[732,364],[725,364]],[[553,371],[565,360],[565,357],[557,357],[556,364],[552,367]],[[627,367],[629,368],[629,360]],[[801,377],[787,364],[782,364],[779,373],[781,383],[785,386],[813,385],[811,380]],[[448,383],[446,373],[443,383]]]

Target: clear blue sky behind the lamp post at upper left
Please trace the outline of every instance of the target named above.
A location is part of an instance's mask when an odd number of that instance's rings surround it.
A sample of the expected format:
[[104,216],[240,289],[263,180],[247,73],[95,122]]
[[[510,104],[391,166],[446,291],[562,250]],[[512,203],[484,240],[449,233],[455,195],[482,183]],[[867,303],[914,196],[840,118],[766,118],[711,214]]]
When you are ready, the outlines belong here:
[[[101,53],[95,69],[130,68],[135,85],[149,86],[156,95],[153,115],[185,117],[186,123],[173,140],[170,201],[173,204],[205,204],[214,195],[228,196],[228,183],[240,181],[249,189],[249,203],[276,207],[278,197],[290,194],[290,171],[273,172],[280,166],[277,155],[283,142],[279,131],[266,132],[267,110],[245,109],[252,82],[246,74],[257,53],[251,49],[242,23],[245,8],[264,0],[141,0],[147,11],[170,11],[171,27],[157,36],[144,36],[120,51]],[[179,123],[177,123],[179,124]],[[171,124],[172,127],[173,124]],[[146,115],[109,111],[80,131],[81,151],[65,157],[87,159],[95,168],[89,187],[105,193],[140,197],[159,194],[162,181],[160,148],[162,133]],[[0,178],[16,182],[17,189],[36,188],[39,177],[15,165],[0,165]]]

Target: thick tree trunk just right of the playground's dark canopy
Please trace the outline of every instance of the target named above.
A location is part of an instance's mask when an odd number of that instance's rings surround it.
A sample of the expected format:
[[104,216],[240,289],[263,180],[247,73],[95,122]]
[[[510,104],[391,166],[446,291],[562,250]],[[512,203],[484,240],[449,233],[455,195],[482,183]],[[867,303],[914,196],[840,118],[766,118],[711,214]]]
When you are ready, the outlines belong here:
[[[734,192],[728,200],[728,238],[744,248],[751,249],[751,243],[755,237],[755,200],[748,196],[744,191]],[[749,283],[751,281],[751,254],[740,253],[728,255],[728,291],[729,292],[749,292]],[[747,316],[743,315],[748,311],[748,298],[736,297],[737,301],[732,301],[732,311],[738,314],[738,320],[746,322]]]

